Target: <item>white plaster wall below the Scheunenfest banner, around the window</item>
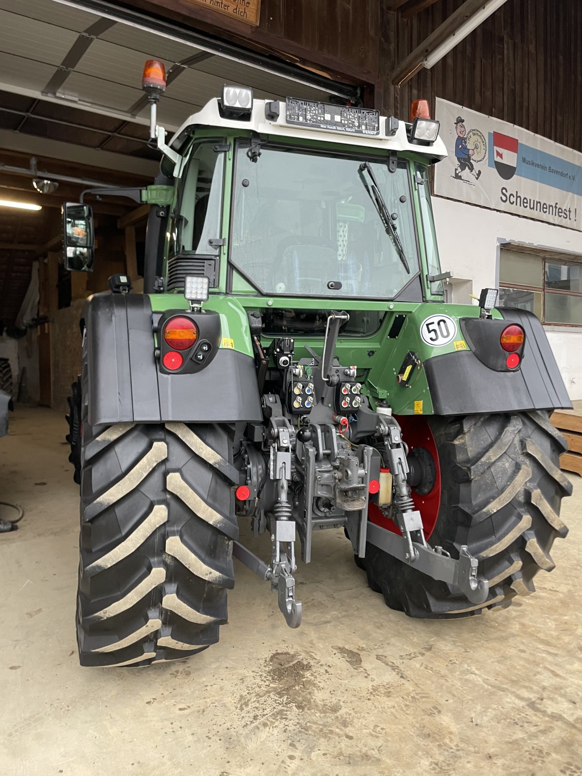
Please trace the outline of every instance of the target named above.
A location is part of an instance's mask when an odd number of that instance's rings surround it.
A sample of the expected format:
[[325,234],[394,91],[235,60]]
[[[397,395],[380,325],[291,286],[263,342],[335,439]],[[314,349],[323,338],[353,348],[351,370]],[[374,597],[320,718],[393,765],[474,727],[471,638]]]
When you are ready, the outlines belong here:
[[[472,280],[476,296],[484,286],[497,286],[500,243],[582,256],[582,232],[437,196],[432,205],[442,269],[452,272],[457,287],[460,279]],[[547,334],[570,399],[582,399],[582,331],[549,327]]]

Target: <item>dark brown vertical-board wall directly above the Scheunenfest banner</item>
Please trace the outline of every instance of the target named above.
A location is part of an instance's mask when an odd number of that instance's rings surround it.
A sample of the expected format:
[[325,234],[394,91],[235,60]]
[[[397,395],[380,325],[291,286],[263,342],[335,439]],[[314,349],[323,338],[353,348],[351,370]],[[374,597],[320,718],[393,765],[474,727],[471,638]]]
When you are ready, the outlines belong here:
[[[462,0],[437,0],[409,21],[384,12],[380,85]],[[523,126],[582,151],[582,2],[508,0],[431,70],[400,89],[385,88],[383,108],[404,118],[412,100],[435,97]],[[390,50],[390,43],[393,44]]]

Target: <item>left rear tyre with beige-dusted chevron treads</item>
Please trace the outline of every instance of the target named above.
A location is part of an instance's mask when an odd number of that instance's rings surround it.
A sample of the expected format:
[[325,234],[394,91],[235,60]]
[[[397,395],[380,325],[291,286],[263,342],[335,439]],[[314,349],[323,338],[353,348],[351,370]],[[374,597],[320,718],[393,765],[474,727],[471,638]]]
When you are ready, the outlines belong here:
[[82,446],[81,665],[147,665],[216,643],[238,535],[230,428],[85,421]]

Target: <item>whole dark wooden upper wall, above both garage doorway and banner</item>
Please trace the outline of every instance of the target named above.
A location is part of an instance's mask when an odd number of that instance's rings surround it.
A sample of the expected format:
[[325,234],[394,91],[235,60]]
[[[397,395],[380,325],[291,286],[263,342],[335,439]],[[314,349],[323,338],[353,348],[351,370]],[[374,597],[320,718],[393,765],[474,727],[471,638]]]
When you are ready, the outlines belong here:
[[401,88],[392,72],[463,0],[262,0],[258,27],[188,0],[126,0],[147,12],[300,64],[373,85],[365,104],[407,118],[413,99],[443,97],[582,150],[582,0],[507,0],[431,70]]

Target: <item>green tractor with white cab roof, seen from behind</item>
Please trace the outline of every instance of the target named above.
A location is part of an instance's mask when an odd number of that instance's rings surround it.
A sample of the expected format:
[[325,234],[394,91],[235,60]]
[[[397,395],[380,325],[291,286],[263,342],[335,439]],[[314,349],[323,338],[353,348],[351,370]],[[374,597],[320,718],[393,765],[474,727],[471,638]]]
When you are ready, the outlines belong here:
[[[166,144],[159,63],[144,88],[163,154],[127,192],[151,204],[144,293],[115,275],[88,299],[71,399],[81,664],[216,643],[234,557],[296,628],[296,537],[309,563],[326,528],[411,617],[532,592],[567,532],[549,414],[571,405],[533,314],[496,289],[445,303],[438,122],[227,86]],[[90,208],[64,206],[64,228],[68,267],[90,270]]]

